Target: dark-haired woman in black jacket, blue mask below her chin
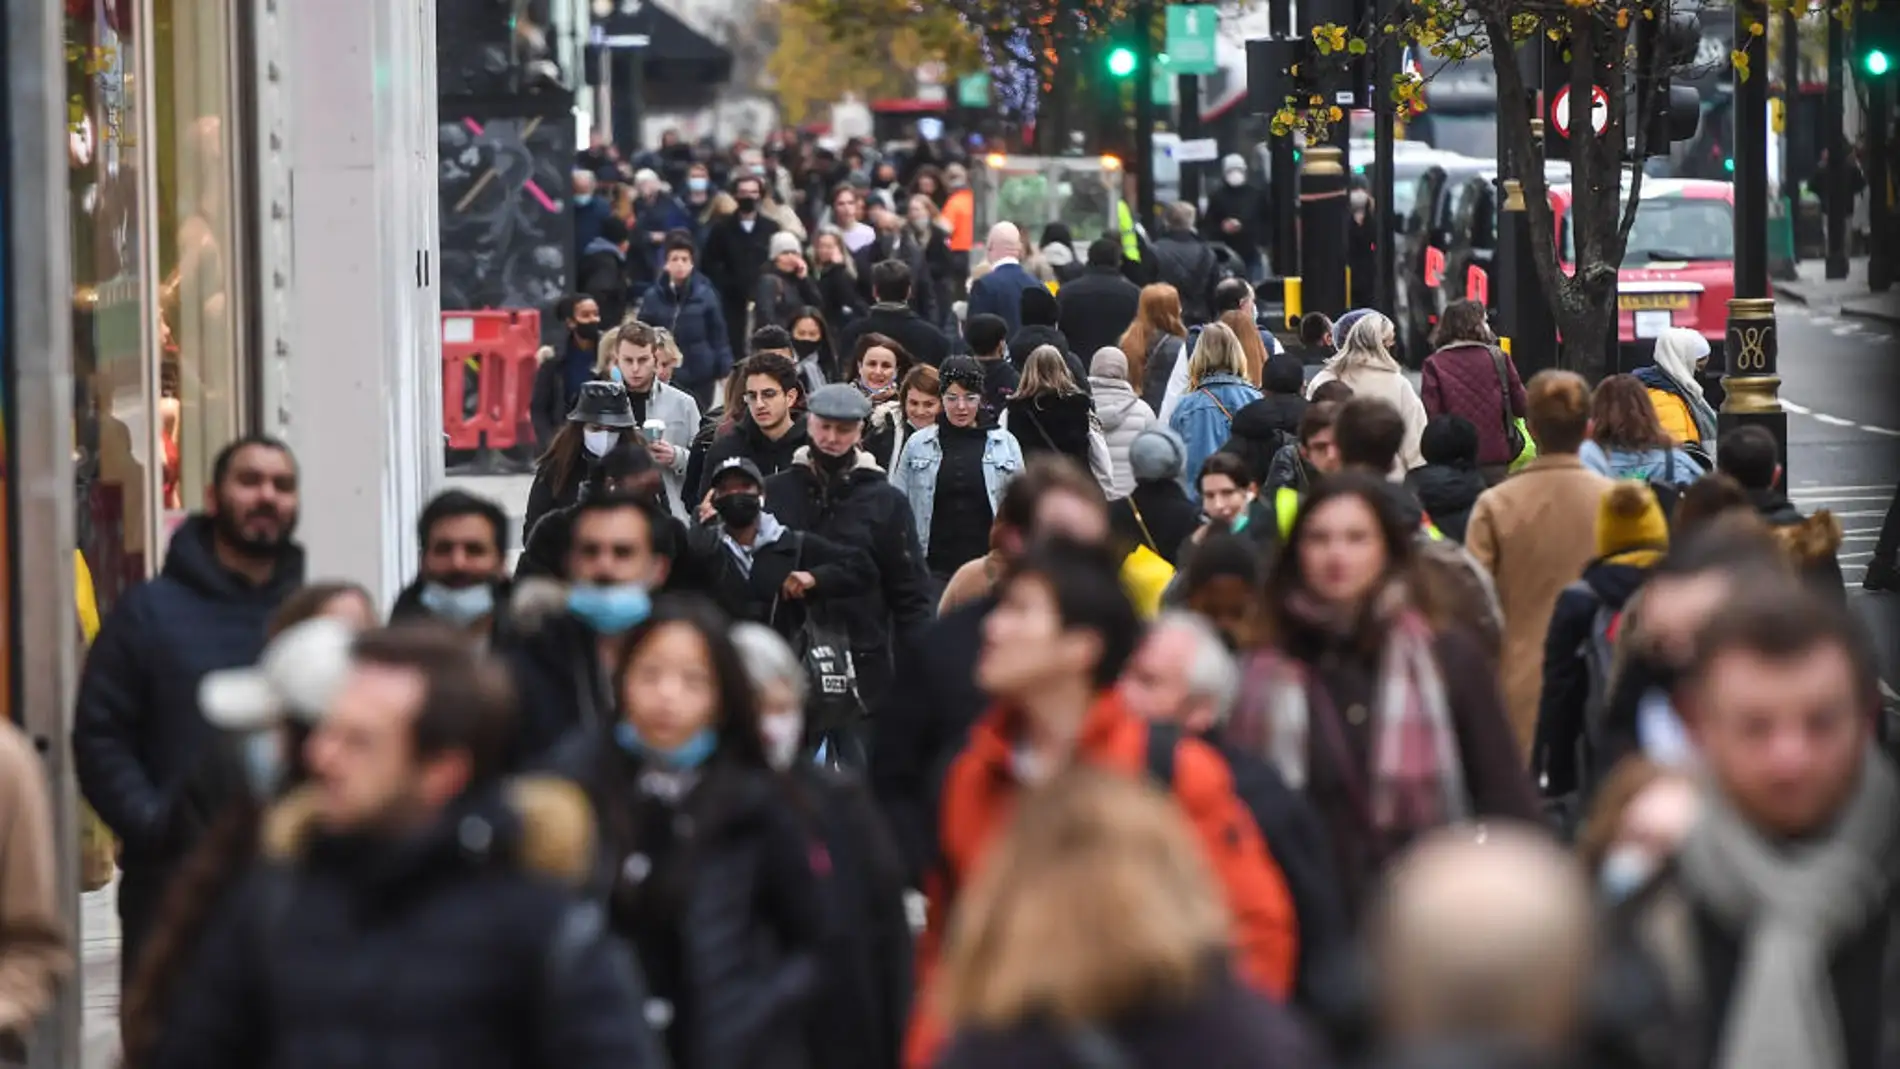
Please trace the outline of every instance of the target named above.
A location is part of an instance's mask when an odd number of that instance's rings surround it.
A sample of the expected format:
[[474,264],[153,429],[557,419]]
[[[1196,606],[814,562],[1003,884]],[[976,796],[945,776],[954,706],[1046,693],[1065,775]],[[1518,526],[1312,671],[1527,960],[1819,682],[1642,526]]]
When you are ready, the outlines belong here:
[[621,646],[619,720],[572,765],[600,815],[608,923],[674,1069],[804,1069],[821,851],[766,761],[730,627],[705,600],[659,598]]

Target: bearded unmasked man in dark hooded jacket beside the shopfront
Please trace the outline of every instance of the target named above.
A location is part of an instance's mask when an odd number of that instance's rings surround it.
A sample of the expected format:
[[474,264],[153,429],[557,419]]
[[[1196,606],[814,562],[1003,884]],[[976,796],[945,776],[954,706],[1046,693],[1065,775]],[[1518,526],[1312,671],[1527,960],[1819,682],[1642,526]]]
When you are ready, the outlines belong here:
[[[291,448],[266,437],[224,446],[205,511],[179,526],[163,572],[112,606],[86,657],[72,758],[86,801],[124,843],[122,976],[137,968],[171,872],[222,809],[184,805],[180,784],[200,761],[238,760],[207,746],[198,684],[262,653],[266,621],[304,581],[294,530]],[[239,771],[217,778],[243,782]]]

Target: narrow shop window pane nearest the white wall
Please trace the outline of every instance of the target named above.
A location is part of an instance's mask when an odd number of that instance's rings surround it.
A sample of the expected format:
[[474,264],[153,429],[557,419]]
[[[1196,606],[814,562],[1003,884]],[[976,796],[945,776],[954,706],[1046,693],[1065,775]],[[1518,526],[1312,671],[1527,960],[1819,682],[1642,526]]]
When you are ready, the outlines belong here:
[[238,437],[241,129],[230,4],[154,0],[158,163],[158,442],[163,530],[203,507],[211,459]]

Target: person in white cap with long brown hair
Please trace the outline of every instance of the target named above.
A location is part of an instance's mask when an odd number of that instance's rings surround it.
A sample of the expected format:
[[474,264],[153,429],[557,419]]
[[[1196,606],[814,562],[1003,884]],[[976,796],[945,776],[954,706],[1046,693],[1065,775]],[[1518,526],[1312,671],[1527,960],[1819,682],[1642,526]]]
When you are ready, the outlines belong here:
[[[218,727],[211,750],[184,794],[213,780],[232,801],[184,860],[160,904],[152,942],[124,995],[125,1067],[142,1065],[158,1048],[171,993],[215,923],[239,875],[258,853],[266,807],[304,784],[304,741],[329,710],[329,697],[350,666],[350,642],[374,627],[369,592],[355,583],[312,583],[285,600],[270,623],[270,646],[256,668],[213,672],[200,704]],[[241,777],[239,784],[226,784]]]

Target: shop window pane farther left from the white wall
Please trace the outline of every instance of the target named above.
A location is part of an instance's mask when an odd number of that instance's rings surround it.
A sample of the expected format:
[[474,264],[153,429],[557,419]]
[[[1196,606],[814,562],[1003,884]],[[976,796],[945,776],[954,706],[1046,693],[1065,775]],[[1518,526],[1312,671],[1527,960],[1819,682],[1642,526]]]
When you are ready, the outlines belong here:
[[104,0],[66,0],[65,9],[74,501],[101,611],[144,579],[156,516],[133,9]]

